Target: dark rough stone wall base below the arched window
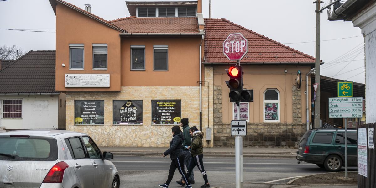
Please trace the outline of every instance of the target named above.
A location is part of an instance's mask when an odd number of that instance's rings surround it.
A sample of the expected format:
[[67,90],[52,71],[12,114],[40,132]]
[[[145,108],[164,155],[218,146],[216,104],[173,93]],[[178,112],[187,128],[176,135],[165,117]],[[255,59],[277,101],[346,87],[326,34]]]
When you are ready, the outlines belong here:
[[[243,146],[297,147],[297,142],[306,132],[304,124],[248,123]],[[230,124],[214,125],[214,146],[234,147]]]

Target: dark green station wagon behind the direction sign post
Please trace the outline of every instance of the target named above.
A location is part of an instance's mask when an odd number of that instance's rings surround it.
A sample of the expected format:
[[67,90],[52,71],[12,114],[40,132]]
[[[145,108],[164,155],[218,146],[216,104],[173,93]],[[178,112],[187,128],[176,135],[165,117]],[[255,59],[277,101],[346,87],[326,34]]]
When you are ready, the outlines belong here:
[[[298,163],[313,163],[332,172],[341,170],[345,161],[344,137],[344,129],[308,130],[299,143]],[[358,165],[356,129],[347,129],[347,159],[347,166]]]

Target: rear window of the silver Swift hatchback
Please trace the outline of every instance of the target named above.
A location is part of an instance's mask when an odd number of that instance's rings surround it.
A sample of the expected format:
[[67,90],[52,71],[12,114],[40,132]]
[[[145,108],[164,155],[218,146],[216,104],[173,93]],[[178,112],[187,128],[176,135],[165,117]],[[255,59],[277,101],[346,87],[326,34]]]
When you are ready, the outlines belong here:
[[56,139],[0,138],[0,153],[3,161],[55,161],[58,159]]

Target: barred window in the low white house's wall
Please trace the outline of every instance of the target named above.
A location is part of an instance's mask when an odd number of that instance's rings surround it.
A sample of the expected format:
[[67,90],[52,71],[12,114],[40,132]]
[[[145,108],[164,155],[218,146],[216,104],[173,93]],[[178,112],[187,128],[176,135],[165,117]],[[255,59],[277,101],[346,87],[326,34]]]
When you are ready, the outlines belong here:
[[22,99],[3,100],[3,118],[22,118]]

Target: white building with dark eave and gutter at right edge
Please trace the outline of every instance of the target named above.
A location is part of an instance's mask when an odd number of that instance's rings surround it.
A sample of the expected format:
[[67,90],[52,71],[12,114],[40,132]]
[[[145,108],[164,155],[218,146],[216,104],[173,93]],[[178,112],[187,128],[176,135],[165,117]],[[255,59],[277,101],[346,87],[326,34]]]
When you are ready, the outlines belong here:
[[331,8],[328,20],[352,21],[362,30],[365,41],[365,117],[376,122],[376,2],[347,0]]

